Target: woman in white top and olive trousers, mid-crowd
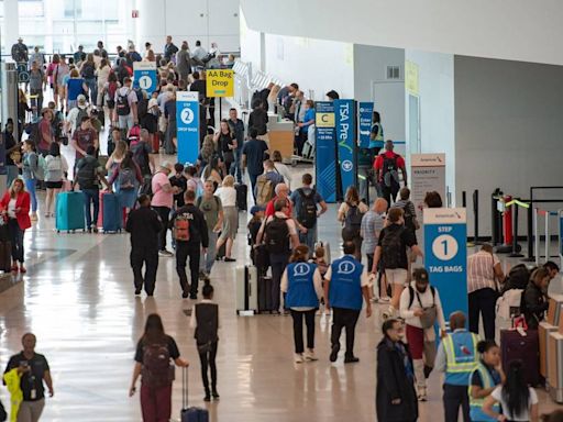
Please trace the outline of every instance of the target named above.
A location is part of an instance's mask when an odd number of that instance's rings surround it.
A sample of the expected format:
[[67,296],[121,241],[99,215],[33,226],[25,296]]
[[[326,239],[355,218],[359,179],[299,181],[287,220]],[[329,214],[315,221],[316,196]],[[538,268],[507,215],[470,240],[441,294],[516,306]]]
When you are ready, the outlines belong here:
[[231,254],[233,251],[233,242],[236,238],[239,231],[239,210],[236,209],[236,189],[234,189],[234,177],[227,176],[223,184],[216,191],[216,196],[221,200],[223,206],[223,226],[221,227],[221,235],[217,240],[217,251],[225,243],[224,262],[234,263]]

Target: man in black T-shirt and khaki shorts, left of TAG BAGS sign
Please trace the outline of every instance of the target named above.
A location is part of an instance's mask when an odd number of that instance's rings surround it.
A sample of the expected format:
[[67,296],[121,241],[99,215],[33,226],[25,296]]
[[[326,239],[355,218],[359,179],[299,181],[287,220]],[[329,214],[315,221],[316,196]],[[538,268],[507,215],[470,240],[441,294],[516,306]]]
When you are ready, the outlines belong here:
[[393,297],[389,309],[384,312],[384,318],[391,318],[398,307],[400,295],[408,280],[409,258],[407,247],[411,253],[422,256],[422,251],[417,245],[417,238],[412,231],[405,229],[405,213],[400,208],[391,208],[387,213],[388,225],[379,233],[374,254],[372,273],[377,274],[377,266],[382,260],[387,282],[391,286]]

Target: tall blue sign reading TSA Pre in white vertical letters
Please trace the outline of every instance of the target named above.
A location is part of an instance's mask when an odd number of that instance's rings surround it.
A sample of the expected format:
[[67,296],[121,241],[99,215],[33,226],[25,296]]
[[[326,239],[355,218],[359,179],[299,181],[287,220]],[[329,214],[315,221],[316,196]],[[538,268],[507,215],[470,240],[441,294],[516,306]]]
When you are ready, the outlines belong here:
[[336,140],[342,192],[357,186],[356,110],[354,100],[335,100]]

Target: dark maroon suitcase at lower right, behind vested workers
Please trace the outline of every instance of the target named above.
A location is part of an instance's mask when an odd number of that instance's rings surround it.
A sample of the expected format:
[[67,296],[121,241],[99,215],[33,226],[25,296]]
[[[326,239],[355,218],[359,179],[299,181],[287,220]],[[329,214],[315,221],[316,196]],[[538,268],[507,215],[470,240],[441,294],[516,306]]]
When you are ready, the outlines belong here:
[[537,330],[528,330],[526,335],[521,335],[517,330],[503,330],[500,353],[505,373],[508,371],[510,362],[522,360],[526,381],[532,387],[540,382],[540,342]]

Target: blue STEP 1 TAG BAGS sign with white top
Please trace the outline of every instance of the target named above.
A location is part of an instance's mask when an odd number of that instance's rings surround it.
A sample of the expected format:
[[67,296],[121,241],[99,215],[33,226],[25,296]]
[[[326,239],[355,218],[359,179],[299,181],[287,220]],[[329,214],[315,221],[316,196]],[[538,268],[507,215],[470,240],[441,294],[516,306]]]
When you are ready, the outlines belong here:
[[464,208],[426,208],[424,267],[440,292],[444,316],[467,315],[467,225]]

